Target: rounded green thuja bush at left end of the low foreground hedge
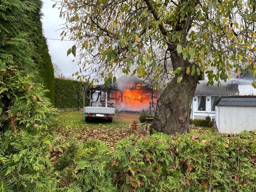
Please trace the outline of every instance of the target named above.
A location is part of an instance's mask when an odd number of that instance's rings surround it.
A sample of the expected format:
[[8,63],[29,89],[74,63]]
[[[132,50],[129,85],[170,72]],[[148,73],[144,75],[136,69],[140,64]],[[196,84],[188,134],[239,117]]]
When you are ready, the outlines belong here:
[[59,171],[61,192],[115,192],[116,173],[112,170],[110,149],[98,140],[73,141],[59,155],[55,169]]

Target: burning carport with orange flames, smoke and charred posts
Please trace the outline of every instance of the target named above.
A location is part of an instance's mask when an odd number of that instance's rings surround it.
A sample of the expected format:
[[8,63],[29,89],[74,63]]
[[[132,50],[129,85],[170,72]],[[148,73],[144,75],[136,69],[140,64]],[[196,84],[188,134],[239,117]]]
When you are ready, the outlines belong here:
[[[93,97],[93,93],[98,95]],[[115,107],[118,111],[141,111],[145,109],[154,113],[159,96],[159,91],[154,91],[150,84],[129,75],[117,78],[115,84],[108,88],[103,88],[102,85],[91,88],[92,104],[98,103],[102,106]]]

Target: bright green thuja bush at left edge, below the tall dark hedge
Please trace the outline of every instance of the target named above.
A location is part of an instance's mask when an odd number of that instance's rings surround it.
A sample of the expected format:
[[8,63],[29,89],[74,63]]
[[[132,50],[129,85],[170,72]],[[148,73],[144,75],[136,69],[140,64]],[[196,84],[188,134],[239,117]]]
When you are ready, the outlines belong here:
[[0,191],[54,191],[49,134],[55,110],[31,77],[0,60]]

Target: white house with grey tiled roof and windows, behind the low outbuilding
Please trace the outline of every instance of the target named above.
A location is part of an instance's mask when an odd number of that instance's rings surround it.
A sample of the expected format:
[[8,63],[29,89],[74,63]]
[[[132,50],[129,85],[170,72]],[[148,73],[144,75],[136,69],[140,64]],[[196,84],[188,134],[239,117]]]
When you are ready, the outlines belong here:
[[221,86],[206,86],[206,81],[200,81],[191,104],[191,119],[205,119],[206,116],[215,119],[215,102],[221,96],[256,95],[252,81],[253,76],[249,73],[223,82]]

